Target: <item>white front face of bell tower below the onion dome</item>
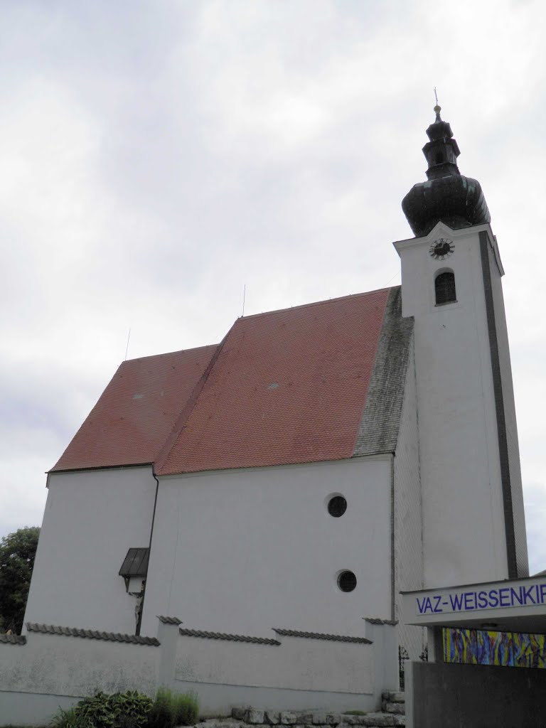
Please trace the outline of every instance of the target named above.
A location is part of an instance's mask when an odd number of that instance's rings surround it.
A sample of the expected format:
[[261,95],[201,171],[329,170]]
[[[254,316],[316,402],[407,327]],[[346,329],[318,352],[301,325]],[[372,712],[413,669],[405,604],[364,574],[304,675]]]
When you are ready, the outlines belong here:
[[[421,448],[424,586],[507,577],[496,414],[480,230],[442,223],[424,238],[397,242],[403,315],[414,316]],[[430,256],[454,241],[446,260]],[[451,269],[456,302],[435,305],[435,274]]]

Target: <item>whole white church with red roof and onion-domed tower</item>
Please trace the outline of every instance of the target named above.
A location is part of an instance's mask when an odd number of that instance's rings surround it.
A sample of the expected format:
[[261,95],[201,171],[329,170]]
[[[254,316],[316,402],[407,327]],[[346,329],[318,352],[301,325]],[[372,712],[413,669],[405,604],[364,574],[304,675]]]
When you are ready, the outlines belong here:
[[47,475],[26,630],[381,622],[416,660],[400,592],[529,574],[499,246],[438,106],[427,135],[400,286],[119,366]]

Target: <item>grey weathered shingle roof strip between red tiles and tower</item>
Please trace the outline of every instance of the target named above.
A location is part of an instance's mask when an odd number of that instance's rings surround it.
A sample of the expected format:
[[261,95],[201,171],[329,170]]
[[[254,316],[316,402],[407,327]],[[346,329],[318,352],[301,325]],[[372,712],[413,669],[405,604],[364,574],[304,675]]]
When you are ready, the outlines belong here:
[[413,317],[402,318],[402,291],[391,288],[353,457],[393,453],[404,399]]

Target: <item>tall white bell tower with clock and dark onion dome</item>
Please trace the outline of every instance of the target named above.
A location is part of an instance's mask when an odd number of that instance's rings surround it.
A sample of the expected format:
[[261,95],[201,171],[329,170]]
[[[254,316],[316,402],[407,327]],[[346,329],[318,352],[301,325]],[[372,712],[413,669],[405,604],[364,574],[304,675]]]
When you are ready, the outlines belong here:
[[424,587],[529,574],[504,274],[478,181],[435,106],[427,181],[402,202],[395,242],[414,317]]

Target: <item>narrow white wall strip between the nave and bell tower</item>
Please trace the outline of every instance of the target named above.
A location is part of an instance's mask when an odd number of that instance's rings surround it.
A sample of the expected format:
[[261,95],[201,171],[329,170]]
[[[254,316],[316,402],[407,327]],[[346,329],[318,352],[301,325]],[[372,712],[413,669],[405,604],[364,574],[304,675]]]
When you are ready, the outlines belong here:
[[394,459],[395,476],[395,617],[398,643],[417,660],[423,651],[424,633],[402,620],[400,591],[423,585],[421,473],[419,469],[419,425],[417,416],[414,345],[405,375],[404,400]]

